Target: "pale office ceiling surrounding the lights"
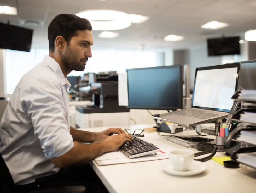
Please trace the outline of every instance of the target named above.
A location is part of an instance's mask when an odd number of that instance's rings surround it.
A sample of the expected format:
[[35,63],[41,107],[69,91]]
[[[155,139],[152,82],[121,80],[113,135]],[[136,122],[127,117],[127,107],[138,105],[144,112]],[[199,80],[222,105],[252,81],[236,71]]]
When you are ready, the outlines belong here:
[[[62,13],[75,14],[87,9],[114,9],[128,14],[142,14],[150,19],[142,24],[116,30],[115,39],[98,38],[100,31],[93,31],[95,46],[135,48],[188,48],[205,44],[207,37],[244,34],[256,28],[256,0],[17,0],[19,16],[0,15],[0,22],[18,24],[19,20],[44,21],[44,26],[35,27],[33,46],[48,48],[47,28],[52,19]],[[16,6],[16,0],[0,0]],[[47,6],[50,4],[49,9]],[[209,21],[227,22],[230,26],[219,30],[201,29]],[[183,35],[179,42],[166,42],[169,34]]]

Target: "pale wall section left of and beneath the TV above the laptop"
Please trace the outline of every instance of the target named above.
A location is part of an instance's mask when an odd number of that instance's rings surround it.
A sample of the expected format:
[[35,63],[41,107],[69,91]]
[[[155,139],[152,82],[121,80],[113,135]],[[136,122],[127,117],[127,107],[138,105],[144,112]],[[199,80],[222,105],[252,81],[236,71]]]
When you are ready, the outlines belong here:
[[208,57],[206,45],[201,46],[201,47],[191,48],[190,52],[189,52],[189,58],[190,58],[190,62],[189,62],[189,64],[190,64],[190,74],[189,74],[190,89],[192,89],[194,86],[195,69],[197,67],[214,66],[214,65],[221,64],[221,56]]

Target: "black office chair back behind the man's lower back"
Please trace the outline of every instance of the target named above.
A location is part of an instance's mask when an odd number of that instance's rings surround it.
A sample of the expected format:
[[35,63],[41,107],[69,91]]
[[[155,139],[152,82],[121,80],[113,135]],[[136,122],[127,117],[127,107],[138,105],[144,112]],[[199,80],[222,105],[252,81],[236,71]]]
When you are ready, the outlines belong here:
[[15,191],[14,181],[9,172],[2,155],[0,154],[0,192],[13,193]]

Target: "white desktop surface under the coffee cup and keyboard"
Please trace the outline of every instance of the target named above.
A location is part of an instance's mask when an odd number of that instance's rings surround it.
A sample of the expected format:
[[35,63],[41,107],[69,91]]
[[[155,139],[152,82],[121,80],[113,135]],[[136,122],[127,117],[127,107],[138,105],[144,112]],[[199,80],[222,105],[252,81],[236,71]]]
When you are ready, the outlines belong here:
[[[131,125],[121,128],[143,129],[152,125]],[[90,128],[82,130],[101,131],[107,129]],[[154,133],[146,136],[166,142],[177,148],[185,148],[166,141],[164,137]],[[166,133],[166,135],[168,135]],[[195,135],[195,131],[184,131],[177,135]],[[196,149],[192,149],[198,152]],[[208,154],[207,154],[208,155]],[[205,157],[203,155],[201,157]],[[215,156],[223,156],[217,152]],[[255,193],[256,170],[249,167],[238,169],[224,168],[213,160],[206,163],[207,169],[201,174],[189,177],[174,176],[163,172],[162,166],[169,159],[147,162],[126,163],[108,166],[97,166],[90,163],[110,193]]]

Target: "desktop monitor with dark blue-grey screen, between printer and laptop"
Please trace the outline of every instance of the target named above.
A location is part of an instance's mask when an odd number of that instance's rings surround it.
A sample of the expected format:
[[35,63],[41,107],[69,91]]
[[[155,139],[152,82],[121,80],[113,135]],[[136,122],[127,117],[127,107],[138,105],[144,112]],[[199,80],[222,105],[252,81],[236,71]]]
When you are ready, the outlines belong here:
[[128,106],[132,109],[183,108],[183,68],[180,65],[126,69]]

